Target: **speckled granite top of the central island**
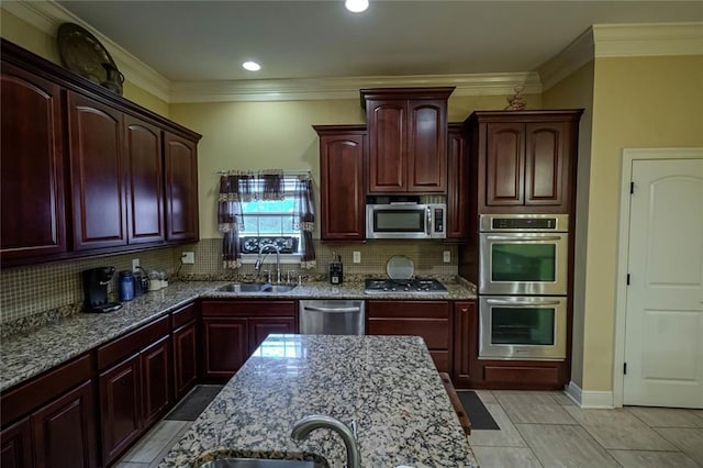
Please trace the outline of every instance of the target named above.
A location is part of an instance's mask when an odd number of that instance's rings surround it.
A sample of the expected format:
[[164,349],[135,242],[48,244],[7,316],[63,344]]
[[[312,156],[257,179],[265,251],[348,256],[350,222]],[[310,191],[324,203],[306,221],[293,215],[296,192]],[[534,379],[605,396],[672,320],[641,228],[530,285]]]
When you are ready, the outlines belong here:
[[328,430],[290,437],[310,414],[356,421],[362,467],[477,465],[422,338],[269,335],[159,466],[314,454],[343,467]]

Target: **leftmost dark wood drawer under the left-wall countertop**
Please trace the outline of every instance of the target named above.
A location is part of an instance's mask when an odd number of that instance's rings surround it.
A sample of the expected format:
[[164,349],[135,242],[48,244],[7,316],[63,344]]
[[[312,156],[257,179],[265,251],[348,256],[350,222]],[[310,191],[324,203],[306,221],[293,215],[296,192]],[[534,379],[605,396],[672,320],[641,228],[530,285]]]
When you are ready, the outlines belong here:
[[92,359],[90,355],[85,355],[3,393],[0,400],[2,426],[30,413],[34,408],[58,397],[79,382],[90,379]]

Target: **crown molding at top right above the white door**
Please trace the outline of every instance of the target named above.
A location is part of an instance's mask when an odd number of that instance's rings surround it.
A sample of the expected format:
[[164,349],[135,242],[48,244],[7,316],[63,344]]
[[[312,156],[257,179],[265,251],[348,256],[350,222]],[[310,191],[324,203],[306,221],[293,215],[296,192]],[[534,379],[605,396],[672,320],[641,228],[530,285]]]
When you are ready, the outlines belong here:
[[702,55],[703,22],[594,24],[595,57]]

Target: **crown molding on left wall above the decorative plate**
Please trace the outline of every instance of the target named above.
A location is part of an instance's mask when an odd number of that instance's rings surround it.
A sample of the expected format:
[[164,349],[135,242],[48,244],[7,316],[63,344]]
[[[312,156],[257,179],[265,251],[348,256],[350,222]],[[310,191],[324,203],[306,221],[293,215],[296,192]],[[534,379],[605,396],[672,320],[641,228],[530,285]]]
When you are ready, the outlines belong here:
[[110,55],[118,64],[120,71],[130,82],[156,96],[158,99],[169,102],[171,83],[166,77],[55,1],[4,1],[2,2],[2,8],[52,37],[56,37],[56,31],[62,23],[69,22],[81,25],[98,37],[102,45],[110,51]]

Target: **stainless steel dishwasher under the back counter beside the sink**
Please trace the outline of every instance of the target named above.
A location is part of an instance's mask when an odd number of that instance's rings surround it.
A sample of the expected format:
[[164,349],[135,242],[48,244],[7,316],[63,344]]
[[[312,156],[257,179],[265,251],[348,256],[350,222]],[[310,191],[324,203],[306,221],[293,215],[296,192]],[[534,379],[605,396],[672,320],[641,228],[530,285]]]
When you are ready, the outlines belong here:
[[320,299],[300,301],[298,323],[303,335],[364,335],[364,301]]

